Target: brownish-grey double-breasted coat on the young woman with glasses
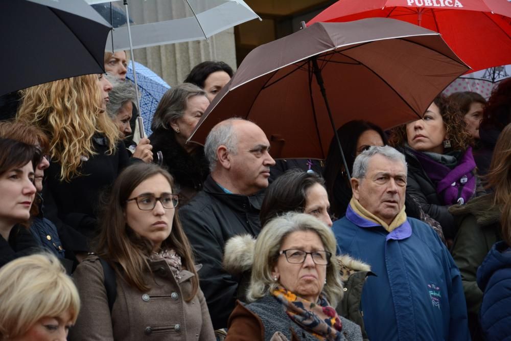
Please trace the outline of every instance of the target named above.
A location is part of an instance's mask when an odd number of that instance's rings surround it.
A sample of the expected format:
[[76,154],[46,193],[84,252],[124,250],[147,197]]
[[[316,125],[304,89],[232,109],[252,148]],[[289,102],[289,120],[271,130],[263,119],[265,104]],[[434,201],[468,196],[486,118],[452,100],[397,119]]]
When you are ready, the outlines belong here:
[[165,260],[149,262],[151,289],[141,292],[117,276],[117,296],[112,307],[97,256],[86,258],[74,272],[80,293],[78,320],[69,340],[215,340],[210,313],[199,289],[190,302],[183,299],[192,289],[192,272],[183,270],[176,281]]

